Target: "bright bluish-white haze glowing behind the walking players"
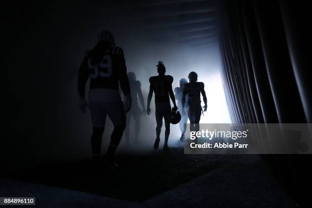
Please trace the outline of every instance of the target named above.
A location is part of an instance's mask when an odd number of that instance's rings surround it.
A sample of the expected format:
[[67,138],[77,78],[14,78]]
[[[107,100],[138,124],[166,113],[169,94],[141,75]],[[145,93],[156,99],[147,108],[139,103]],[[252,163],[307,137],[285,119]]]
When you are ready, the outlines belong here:
[[[166,74],[172,75],[174,78],[173,89],[179,86],[180,79],[185,78],[188,80],[188,74],[191,71],[197,72],[198,82],[204,83],[208,108],[201,116],[200,123],[231,123],[221,82],[221,57],[217,40],[208,47],[194,48],[188,44],[153,41],[146,37],[137,40],[136,37],[138,35],[133,34],[132,41],[128,41],[129,37],[120,37],[120,39],[116,37],[116,39],[119,39],[120,44],[123,45],[127,70],[135,72],[137,80],[142,84],[145,104],[149,90],[148,79],[150,76],[158,75],[155,65],[159,60],[162,60],[166,66]],[[138,51],[141,52],[138,53]],[[171,106],[173,106],[172,103]],[[142,130],[140,135],[145,138],[144,140],[150,140],[150,142],[154,140],[154,109],[154,100],[152,99],[152,114],[141,118]],[[133,125],[132,122],[131,126],[134,127]],[[162,135],[164,131],[163,126]],[[171,124],[169,142],[177,141],[179,136],[178,125]],[[148,145],[150,144],[148,143]]]

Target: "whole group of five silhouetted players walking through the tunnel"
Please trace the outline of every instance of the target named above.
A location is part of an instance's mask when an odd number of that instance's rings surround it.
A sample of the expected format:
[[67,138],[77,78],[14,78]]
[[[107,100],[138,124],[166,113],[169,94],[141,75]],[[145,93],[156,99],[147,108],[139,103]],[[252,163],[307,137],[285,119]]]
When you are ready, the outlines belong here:
[[[160,143],[161,128],[163,119],[165,121],[165,142],[164,150],[170,149],[168,139],[170,134],[170,122],[177,123],[181,131],[180,140],[185,139],[186,123],[190,120],[190,131],[198,131],[202,111],[207,109],[207,98],[204,91],[204,84],[197,82],[197,73],[192,71],[188,75],[189,82],[181,79],[179,87],[172,90],[173,77],[166,75],[166,67],[162,61],[157,65],[157,76],[149,79],[149,93],[147,97],[147,108],[145,109],[144,98],[140,81],[136,80],[134,72],[126,70],[123,50],[115,45],[114,36],[108,31],[102,31],[98,35],[96,46],[87,51],[86,56],[79,68],[78,92],[80,96],[80,110],[90,110],[92,120],[91,147],[93,161],[95,163],[105,162],[118,168],[114,160],[115,151],[125,131],[126,142],[129,145],[129,122],[131,118],[135,121],[135,142],[140,133],[141,115],[151,114],[150,102],[154,94],[156,139],[154,149],[158,149]],[[86,83],[90,78],[89,102],[86,101]],[[119,85],[125,97],[122,102]],[[203,97],[204,107],[202,110],[200,94]],[[139,107],[138,98],[142,109]],[[173,108],[170,105],[170,99]],[[175,100],[177,99],[178,105]],[[181,112],[181,116],[178,113]],[[112,120],[114,129],[111,134],[111,141],[108,150],[102,158],[101,141],[104,132],[107,115]],[[180,117],[178,117],[178,116]],[[172,120],[175,119],[176,122]],[[180,120],[179,120],[180,119]]]

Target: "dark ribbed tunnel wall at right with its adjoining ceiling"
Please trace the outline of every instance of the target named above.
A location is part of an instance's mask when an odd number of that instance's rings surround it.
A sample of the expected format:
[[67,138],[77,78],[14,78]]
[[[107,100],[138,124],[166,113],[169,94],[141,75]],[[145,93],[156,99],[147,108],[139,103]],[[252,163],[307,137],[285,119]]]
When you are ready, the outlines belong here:
[[[135,11],[141,17],[140,11],[162,14],[144,19],[157,29],[163,27],[163,35],[156,39],[179,41],[195,50],[218,44],[233,123],[311,123],[307,5],[295,1],[183,1],[148,7]],[[264,154],[262,158],[285,189],[308,207],[310,155]]]

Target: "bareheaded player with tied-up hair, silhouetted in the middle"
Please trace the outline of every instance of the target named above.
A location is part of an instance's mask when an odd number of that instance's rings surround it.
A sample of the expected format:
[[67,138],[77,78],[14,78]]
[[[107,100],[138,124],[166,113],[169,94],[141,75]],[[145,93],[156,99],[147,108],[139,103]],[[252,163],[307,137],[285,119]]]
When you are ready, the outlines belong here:
[[150,101],[153,96],[153,92],[155,93],[155,117],[157,122],[156,127],[156,140],[154,143],[154,149],[158,149],[160,142],[160,133],[163,125],[163,118],[165,119],[165,144],[164,150],[169,149],[168,147],[168,139],[170,134],[170,115],[171,115],[171,106],[170,99],[173,102],[173,110],[176,111],[177,107],[175,104],[175,98],[172,91],[172,82],[173,77],[170,75],[165,75],[166,67],[162,61],[158,62],[157,65],[158,76],[151,76],[149,78],[149,93],[147,98],[147,114],[150,114]]

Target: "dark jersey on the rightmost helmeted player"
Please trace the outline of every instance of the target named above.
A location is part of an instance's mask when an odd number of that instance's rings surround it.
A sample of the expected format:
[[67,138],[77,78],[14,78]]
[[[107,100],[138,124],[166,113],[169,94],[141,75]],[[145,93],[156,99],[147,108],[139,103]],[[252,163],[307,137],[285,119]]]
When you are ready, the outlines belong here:
[[200,93],[204,89],[204,84],[202,82],[189,82],[184,84],[183,91],[188,96],[188,103],[200,103]]

